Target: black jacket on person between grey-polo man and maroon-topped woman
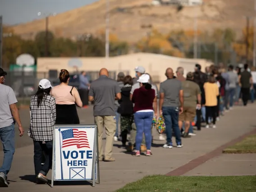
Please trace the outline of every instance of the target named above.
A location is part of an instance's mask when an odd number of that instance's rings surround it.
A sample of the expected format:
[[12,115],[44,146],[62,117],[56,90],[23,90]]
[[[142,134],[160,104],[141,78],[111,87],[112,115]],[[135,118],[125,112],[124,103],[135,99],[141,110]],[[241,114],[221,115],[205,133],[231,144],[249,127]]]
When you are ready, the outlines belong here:
[[126,84],[121,88],[121,99],[118,101],[119,107],[117,112],[122,116],[133,114],[133,102],[130,100],[131,90],[132,86],[129,84]]

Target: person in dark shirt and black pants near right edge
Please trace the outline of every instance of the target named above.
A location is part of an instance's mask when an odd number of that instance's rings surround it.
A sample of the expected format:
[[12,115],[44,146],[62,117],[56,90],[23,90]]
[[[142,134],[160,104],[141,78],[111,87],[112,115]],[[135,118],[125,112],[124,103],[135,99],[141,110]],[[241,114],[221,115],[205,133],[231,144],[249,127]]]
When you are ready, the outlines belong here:
[[244,64],[244,71],[241,73],[241,77],[240,77],[242,102],[244,106],[247,106],[247,102],[250,98],[250,89],[253,89],[252,76],[247,69],[248,69],[248,64]]

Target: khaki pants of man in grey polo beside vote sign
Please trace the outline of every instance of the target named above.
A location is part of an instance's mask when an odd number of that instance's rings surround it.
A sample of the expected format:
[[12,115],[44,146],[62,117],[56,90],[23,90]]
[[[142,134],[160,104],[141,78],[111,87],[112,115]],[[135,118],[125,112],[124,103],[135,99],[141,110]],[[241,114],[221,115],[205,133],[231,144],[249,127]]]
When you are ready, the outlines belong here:
[[95,123],[98,127],[98,150],[99,158],[103,158],[103,146],[102,146],[102,135],[105,125],[106,131],[106,145],[105,145],[105,159],[112,157],[112,148],[114,142],[114,134],[116,130],[116,120],[114,116],[95,116]]

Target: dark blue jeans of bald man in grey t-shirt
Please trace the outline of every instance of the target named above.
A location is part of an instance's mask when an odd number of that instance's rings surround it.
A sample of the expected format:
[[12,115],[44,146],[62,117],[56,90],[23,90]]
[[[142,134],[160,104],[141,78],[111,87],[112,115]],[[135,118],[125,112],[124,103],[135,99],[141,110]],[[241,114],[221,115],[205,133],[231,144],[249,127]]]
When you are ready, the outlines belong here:
[[181,145],[180,130],[178,128],[178,107],[163,107],[163,116],[165,119],[166,142],[172,145],[172,129],[176,137],[177,145]]

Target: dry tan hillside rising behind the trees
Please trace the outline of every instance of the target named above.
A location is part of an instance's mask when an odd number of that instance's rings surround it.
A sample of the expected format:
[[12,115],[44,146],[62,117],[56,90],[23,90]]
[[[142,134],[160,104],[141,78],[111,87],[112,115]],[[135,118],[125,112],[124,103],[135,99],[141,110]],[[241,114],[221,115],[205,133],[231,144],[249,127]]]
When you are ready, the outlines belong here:
[[[204,5],[184,7],[180,12],[175,6],[152,6],[151,0],[110,0],[110,32],[122,40],[135,42],[151,30],[142,26],[151,25],[160,32],[190,30],[194,27],[196,13],[201,31],[231,27],[241,34],[246,24],[244,16],[255,16],[253,9],[254,0],[204,0]],[[105,14],[105,0],[99,0],[50,17],[49,29],[57,36],[73,39],[83,33],[98,34],[105,29]],[[37,32],[45,30],[45,19],[12,28],[23,38],[32,38]]]

